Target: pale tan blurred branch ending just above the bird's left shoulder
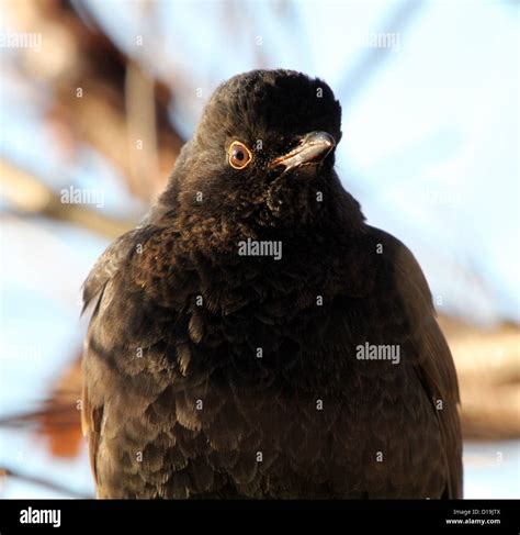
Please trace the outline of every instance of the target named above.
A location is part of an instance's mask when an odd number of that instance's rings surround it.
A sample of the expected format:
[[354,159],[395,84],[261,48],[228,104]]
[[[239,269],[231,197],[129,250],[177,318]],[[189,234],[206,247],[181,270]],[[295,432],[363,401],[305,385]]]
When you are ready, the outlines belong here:
[[66,221],[108,237],[116,237],[134,222],[104,215],[82,204],[63,203],[60,196],[41,180],[0,160],[0,186],[5,200],[19,212]]

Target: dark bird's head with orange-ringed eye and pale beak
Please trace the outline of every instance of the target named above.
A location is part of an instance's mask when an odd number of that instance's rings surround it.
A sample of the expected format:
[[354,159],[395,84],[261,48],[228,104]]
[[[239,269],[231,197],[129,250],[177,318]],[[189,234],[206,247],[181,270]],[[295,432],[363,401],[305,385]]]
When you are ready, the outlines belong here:
[[179,209],[251,226],[308,224],[337,188],[341,107],[329,86],[292,70],[221,85],[169,188]]

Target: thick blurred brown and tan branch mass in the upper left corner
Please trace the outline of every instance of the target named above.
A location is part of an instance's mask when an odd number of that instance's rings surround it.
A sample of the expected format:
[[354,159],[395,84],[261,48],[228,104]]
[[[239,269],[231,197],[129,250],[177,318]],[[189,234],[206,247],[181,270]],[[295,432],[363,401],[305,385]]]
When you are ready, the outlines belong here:
[[[117,48],[89,16],[87,5],[79,10],[81,16],[65,0],[5,5],[21,30],[42,35],[42,51],[21,49],[19,65],[29,79],[50,86],[47,119],[57,126],[61,145],[69,153],[81,144],[94,147],[127,179],[131,192],[145,201],[154,198],[183,144],[168,116],[171,89]],[[136,57],[138,49],[136,44]],[[129,79],[140,83],[128,83],[128,65]],[[134,105],[138,96],[146,99],[140,111]],[[149,168],[154,160],[158,165]]]

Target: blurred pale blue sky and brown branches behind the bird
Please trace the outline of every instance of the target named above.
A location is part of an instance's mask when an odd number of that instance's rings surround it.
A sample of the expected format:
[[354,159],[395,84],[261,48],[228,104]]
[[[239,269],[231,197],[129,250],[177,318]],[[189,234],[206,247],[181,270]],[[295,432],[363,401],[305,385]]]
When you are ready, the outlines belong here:
[[92,497],[80,286],[165,186],[213,89],[328,81],[338,174],[430,282],[466,498],[520,498],[517,1],[0,2],[0,497]]

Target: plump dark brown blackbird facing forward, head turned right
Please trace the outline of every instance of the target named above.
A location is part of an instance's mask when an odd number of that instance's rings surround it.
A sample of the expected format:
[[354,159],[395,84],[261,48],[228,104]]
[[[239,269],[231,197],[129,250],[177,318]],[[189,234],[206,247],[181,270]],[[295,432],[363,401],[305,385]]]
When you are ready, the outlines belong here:
[[217,87],[83,285],[100,499],[457,499],[459,387],[410,250],[335,168],[321,79]]

